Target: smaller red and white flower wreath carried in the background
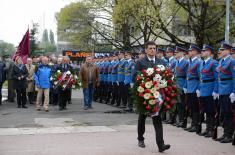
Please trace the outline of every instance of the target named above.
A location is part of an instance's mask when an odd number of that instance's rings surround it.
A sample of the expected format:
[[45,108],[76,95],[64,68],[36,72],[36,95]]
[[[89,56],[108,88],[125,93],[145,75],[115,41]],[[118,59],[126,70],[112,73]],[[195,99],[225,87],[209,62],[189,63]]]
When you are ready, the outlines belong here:
[[62,88],[62,90],[66,89],[80,89],[81,88],[81,81],[77,75],[71,74],[70,71],[62,73],[58,70],[54,75],[51,77],[52,84],[54,88]]

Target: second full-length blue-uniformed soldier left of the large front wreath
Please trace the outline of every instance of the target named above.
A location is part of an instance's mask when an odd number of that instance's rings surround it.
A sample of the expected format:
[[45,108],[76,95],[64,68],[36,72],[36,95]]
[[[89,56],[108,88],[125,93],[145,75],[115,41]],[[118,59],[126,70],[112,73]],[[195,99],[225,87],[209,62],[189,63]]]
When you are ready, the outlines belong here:
[[119,64],[118,64],[118,101],[116,106],[120,106],[121,102],[124,101],[124,79],[125,79],[125,55],[123,52],[120,52],[119,55]]

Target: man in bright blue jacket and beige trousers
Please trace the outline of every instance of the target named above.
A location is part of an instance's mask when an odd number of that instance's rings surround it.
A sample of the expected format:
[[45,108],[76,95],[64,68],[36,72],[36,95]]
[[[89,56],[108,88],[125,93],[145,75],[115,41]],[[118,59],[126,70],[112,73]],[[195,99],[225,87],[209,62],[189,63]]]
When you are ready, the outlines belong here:
[[42,64],[38,66],[34,74],[36,88],[38,89],[36,110],[41,110],[42,95],[44,94],[44,110],[49,111],[49,91],[50,91],[51,68],[48,65],[48,58],[42,58]]

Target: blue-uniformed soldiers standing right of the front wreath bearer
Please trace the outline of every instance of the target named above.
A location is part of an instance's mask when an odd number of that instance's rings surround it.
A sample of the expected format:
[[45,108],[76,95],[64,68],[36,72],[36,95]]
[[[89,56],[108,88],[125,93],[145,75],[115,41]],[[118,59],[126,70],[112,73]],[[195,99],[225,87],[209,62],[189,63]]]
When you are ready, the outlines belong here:
[[[210,45],[204,45],[203,49],[191,45],[188,50],[181,47],[167,50],[180,96],[177,110],[171,113],[168,123],[221,143],[231,143],[235,127],[235,48],[221,44],[218,60],[213,59],[215,52]],[[188,116],[192,122],[187,128]],[[217,138],[220,118],[224,133]],[[203,132],[202,122],[206,123]]]

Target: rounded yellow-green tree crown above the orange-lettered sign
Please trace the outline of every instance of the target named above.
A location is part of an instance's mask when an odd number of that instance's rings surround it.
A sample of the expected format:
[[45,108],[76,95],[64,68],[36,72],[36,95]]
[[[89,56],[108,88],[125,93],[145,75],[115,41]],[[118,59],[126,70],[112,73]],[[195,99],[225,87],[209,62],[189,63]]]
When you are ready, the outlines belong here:
[[88,5],[82,2],[71,3],[57,14],[58,37],[72,42],[79,50],[92,49],[93,14]]

